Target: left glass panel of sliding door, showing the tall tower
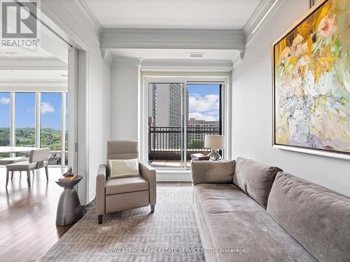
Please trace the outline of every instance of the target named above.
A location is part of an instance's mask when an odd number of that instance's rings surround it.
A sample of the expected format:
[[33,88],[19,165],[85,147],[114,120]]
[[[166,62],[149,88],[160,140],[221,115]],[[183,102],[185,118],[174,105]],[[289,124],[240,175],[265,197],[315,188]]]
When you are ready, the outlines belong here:
[[183,167],[183,83],[148,85],[148,160]]

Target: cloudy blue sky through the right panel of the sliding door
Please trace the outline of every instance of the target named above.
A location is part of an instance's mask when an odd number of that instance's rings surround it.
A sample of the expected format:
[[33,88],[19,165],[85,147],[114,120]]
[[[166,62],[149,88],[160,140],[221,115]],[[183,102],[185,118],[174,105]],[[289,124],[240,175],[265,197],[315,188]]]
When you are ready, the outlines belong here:
[[198,120],[218,121],[220,85],[188,85],[189,117]]

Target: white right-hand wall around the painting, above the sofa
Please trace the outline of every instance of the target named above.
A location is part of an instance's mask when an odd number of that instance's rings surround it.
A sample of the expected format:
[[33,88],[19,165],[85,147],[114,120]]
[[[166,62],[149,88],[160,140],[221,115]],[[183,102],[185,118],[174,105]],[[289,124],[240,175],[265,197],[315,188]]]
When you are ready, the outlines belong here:
[[350,196],[350,161],[272,148],[271,44],[308,8],[308,0],[282,0],[232,73],[233,156],[279,166]]

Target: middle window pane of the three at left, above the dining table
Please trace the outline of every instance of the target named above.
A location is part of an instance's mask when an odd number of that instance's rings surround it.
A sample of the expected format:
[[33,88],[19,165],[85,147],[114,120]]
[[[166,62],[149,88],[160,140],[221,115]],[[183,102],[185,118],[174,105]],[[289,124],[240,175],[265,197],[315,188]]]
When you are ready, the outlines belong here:
[[35,145],[35,93],[15,93],[15,146]]

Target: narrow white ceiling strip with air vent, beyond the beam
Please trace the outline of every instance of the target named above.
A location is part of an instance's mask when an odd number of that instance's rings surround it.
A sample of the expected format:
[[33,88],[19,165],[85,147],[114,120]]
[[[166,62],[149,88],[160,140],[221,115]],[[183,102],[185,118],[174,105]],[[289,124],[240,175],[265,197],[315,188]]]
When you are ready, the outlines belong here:
[[237,50],[185,50],[185,49],[111,49],[113,57],[133,57],[142,59],[199,59],[190,54],[203,54],[200,59],[227,60],[235,57]]

